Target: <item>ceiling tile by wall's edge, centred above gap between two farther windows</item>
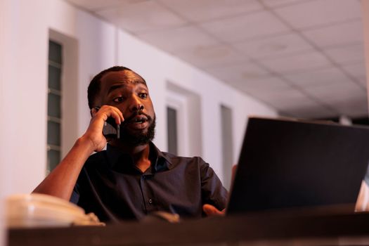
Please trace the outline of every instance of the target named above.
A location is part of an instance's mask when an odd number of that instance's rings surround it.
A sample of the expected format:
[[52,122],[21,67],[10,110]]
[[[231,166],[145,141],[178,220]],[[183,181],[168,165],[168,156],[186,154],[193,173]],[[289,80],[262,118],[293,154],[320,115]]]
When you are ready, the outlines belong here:
[[233,65],[247,60],[245,56],[226,45],[198,46],[193,49],[177,51],[176,56],[201,68]]

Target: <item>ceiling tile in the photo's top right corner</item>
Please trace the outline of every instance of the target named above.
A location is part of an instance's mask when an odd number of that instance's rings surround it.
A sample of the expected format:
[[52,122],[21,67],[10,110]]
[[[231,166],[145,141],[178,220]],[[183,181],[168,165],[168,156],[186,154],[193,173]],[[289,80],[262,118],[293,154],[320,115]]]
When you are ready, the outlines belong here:
[[304,1],[276,8],[276,13],[294,28],[314,27],[361,17],[360,3],[354,0]]

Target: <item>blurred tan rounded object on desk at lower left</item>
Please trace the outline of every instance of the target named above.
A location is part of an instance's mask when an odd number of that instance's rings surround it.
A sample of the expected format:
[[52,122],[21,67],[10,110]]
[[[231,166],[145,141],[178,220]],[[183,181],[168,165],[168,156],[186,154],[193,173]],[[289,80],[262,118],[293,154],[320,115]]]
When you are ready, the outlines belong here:
[[103,226],[95,214],[51,195],[20,194],[6,199],[6,226]]

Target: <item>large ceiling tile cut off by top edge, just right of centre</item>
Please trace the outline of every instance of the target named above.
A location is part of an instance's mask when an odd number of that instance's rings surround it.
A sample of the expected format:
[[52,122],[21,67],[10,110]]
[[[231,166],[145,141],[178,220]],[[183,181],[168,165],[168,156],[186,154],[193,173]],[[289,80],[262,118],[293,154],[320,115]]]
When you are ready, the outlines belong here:
[[160,2],[192,22],[215,20],[263,8],[256,0],[160,0]]

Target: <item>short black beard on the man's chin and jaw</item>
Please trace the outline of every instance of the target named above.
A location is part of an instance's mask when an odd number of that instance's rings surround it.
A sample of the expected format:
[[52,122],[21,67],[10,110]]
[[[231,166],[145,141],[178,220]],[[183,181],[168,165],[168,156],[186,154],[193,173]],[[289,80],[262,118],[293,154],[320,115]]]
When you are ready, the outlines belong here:
[[[144,114],[145,115],[145,114]],[[155,137],[155,124],[156,124],[156,115],[154,115],[154,118],[151,118],[148,115],[145,115],[148,117],[148,122],[150,122],[150,125],[148,127],[148,131],[145,133],[143,132],[134,132],[129,131],[127,127],[122,126],[119,131],[119,141],[125,145],[131,145],[131,146],[139,146],[139,145],[145,145],[148,144],[150,141],[153,141]],[[129,120],[128,120],[129,121]]]

